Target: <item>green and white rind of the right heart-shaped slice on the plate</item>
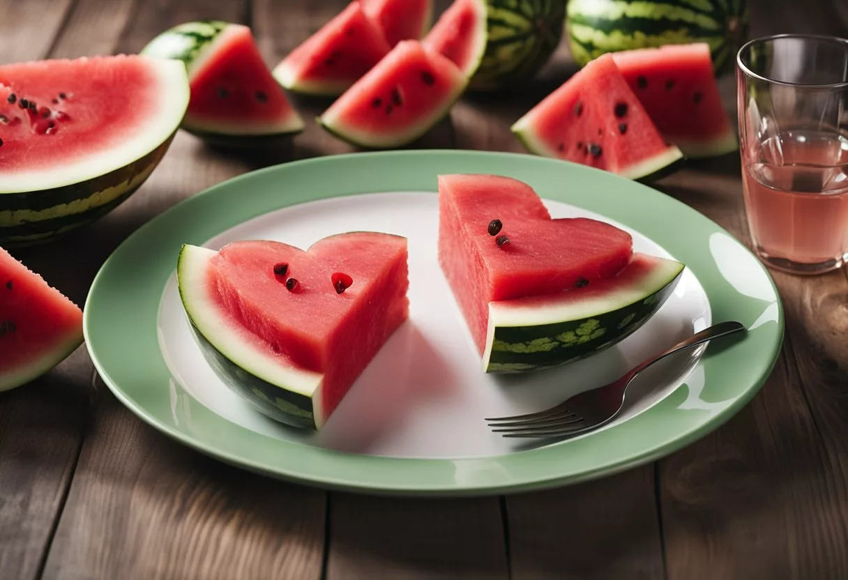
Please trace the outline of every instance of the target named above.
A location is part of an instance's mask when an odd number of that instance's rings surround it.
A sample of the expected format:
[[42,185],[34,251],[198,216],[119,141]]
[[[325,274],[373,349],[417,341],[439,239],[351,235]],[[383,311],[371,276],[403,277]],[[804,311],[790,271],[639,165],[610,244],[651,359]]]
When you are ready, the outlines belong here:
[[564,293],[532,306],[522,299],[490,302],[483,371],[538,371],[621,343],[660,310],[683,276],[682,263],[650,259],[652,267],[644,276],[602,297],[581,299]]

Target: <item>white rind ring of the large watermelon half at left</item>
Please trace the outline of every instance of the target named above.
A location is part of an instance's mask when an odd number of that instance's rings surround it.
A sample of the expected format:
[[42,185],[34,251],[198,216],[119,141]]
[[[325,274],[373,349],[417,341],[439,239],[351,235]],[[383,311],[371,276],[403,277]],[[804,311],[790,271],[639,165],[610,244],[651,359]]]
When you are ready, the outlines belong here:
[[109,148],[86,153],[64,165],[57,162],[34,170],[0,171],[0,194],[70,186],[106,175],[141,159],[174,134],[188,108],[186,67],[179,60],[137,58],[150,61],[149,69],[156,83],[153,94],[160,96],[144,123]]

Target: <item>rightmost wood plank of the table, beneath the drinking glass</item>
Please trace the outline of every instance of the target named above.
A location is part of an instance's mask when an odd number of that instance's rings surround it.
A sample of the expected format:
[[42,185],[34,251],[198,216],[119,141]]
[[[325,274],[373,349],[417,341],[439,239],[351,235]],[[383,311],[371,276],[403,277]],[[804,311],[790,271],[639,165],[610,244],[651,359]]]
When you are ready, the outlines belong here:
[[[827,0],[750,10],[755,36],[848,30]],[[735,156],[706,161],[662,188],[750,243],[740,170]],[[728,425],[661,461],[669,578],[848,575],[845,272],[773,276],[787,321],[773,375]]]

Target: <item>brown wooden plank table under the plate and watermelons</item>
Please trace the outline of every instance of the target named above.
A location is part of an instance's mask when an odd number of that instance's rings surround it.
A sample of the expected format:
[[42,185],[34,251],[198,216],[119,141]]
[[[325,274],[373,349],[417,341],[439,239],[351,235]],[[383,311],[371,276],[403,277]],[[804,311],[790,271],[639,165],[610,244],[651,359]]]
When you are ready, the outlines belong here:
[[[0,0],[0,62],[137,52],[170,25],[215,17],[252,25],[276,64],[344,3]],[[750,9],[756,36],[848,36],[845,0]],[[564,44],[526,92],[464,98],[416,147],[522,151],[510,123],[574,70]],[[732,76],[722,91],[733,114]],[[304,119],[324,104],[298,100]],[[314,124],[262,157],[216,153],[181,132],[126,204],[16,255],[83,304],[115,246],[181,199],[261,166],[349,150]],[[736,156],[657,187],[748,241]],[[652,465],[501,499],[326,493],[225,466],[139,421],[82,347],[0,393],[0,578],[846,578],[848,279],[774,277],[784,349],[727,425]]]

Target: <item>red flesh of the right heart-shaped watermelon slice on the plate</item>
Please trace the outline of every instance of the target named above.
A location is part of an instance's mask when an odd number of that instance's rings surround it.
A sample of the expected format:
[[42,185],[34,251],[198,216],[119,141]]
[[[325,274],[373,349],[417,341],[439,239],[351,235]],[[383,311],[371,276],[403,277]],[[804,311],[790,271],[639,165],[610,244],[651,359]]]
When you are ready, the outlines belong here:
[[[611,278],[630,262],[633,238],[598,220],[551,219],[533,188],[510,177],[438,177],[438,256],[477,348],[488,303],[561,293]],[[502,227],[493,236],[492,220]],[[500,236],[509,238],[499,246]]]

